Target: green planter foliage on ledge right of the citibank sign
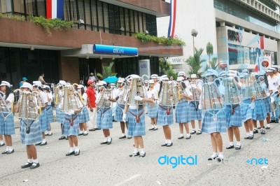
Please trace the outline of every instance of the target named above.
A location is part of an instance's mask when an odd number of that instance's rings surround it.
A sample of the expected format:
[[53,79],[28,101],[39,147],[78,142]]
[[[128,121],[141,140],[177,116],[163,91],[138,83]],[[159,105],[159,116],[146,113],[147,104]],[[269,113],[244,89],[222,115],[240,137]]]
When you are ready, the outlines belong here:
[[139,38],[141,39],[142,43],[149,43],[151,41],[158,43],[160,45],[164,44],[164,45],[179,45],[179,46],[184,46],[186,45],[185,42],[183,42],[181,39],[179,38],[166,38],[164,36],[162,37],[157,37],[157,36],[151,36],[150,34],[145,34],[143,32],[134,34],[134,38]]

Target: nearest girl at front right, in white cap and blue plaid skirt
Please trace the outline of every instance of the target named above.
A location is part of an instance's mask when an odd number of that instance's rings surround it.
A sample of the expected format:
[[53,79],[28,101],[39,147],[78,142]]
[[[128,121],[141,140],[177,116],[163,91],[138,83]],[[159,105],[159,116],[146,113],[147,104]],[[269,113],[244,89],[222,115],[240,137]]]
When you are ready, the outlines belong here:
[[[218,72],[213,69],[207,70],[207,83],[212,83],[216,78],[218,78]],[[214,82],[215,83],[215,82]],[[204,84],[205,85],[205,84]],[[220,94],[224,92],[224,87],[222,85],[218,86],[218,92]],[[214,113],[211,113],[209,110],[204,109],[207,98],[204,97],[204,87],[202,90],[202,96],[200,99],[200,108],[202,108],[202,132],[210,134],[211,137],[211,145],[213,154],[209,157],[208,160],[213,160],[218,158],[218,161],[223,161],[223,139],[221,137],[221,132],[227,131],[227,123],[225,120],[225,113],[223,112],[223,103],[221,103],[221,97],[217,97],[216,101],[220,102],[221,108],[214,110]],[[217,90],[213,90],[217,91]],[[217,92],[217,93],[218,93]],[[209,92],[210,93],[210,92]],[[211,108],[213,109],[213,108]]]

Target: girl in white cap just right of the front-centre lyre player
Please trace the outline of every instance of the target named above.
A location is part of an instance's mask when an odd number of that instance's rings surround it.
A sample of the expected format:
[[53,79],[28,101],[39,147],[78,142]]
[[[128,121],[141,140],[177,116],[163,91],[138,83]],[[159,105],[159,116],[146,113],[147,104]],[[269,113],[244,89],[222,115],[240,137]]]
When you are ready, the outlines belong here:
[[[147,97],[151,99],[158,100],[158,90],[154,88],[155,82],[154,80],[149,80],[150,87],[147,91]],[[148,117],[151,118],[151,129],[149,131],[156,131],[158,130],[157,127],[157,114],[158,114],[158,103],[154,103],[154,106],[151,106],[151,103],[146,104],[148,108]]]

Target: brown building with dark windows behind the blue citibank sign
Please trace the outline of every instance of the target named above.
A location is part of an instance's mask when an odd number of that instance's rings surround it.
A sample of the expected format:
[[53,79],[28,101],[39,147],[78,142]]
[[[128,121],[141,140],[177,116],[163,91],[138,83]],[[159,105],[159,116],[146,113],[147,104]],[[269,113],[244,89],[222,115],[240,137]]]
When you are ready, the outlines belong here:
[[[64,0],[64,20],[69,30],[52,30],[29,22],[29,16],[46,16],[46,0],[0,0],[0,13],[24,16],[26,21],[0,17],[1,80],[16,88],[22,76],[37,80],[45,73],[48,83],[63,79],[78,83],[89,73],[102,73],[102,65],[115,62],[113,71],[125,77],[139,73],[139,60],[150,59],[151,73],[158,73],[158,57],[183,55],[178,46],[141,43],[133,34],[157,36],[157,17],[169,15],[161,0]],[[137,55],[94,53],[94,45],[137,48]]]

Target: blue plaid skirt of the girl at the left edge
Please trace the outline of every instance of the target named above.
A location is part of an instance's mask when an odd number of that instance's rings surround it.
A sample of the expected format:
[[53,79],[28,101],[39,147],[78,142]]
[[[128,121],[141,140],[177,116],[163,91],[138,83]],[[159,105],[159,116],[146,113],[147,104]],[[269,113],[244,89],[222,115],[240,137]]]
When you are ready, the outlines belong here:
[[[13,113],[0,113],[0,134],[11,135],[15,134],[15,124],[13,122]],[[6,117],[6,118],[5,118]]]

